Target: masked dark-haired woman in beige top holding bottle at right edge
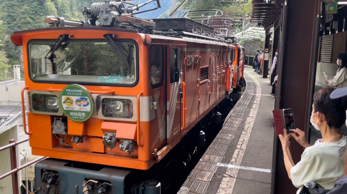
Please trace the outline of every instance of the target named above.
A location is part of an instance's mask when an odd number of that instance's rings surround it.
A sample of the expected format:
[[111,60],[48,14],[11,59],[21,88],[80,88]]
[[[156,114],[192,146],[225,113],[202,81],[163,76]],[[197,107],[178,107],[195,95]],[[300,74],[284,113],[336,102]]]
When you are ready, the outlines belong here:
[[333,87],[346,87],[347,86],[347,54],[341,53],[337,57],[337,65],[340,66],[337,70],[336,76],[332,79],[325,79],[325,83]]

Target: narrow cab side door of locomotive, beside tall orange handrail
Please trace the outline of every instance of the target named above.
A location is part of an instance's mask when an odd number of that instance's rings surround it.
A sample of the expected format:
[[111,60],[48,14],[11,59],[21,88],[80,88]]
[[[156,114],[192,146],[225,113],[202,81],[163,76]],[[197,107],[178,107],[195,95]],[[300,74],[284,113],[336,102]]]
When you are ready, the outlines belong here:
[[171,143],[180,135],[181,128],[181,48],[176,46],[168,47],[167,51],[167,138]]

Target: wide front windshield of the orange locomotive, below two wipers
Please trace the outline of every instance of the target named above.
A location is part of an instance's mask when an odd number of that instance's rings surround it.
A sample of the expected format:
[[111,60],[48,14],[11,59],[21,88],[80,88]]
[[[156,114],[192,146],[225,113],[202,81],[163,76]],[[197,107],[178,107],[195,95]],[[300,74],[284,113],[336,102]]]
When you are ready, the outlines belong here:
[[[130,40],[67,40],[49,53],[54,40],[28,43],[33,81],[133,85],[137,75],[137,45]],[[46,58],[47,53],[50,58]],[[92,84],[93,85],[93,84]]]

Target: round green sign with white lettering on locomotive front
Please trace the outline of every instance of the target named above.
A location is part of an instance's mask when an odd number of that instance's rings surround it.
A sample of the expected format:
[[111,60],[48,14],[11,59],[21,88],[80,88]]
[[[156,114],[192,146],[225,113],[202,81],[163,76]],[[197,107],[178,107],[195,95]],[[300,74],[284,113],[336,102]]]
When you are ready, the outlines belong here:
[[60,93],[60,107],[71,120],[84,122],[94,110],[92,94],[81,85],[68,85]]

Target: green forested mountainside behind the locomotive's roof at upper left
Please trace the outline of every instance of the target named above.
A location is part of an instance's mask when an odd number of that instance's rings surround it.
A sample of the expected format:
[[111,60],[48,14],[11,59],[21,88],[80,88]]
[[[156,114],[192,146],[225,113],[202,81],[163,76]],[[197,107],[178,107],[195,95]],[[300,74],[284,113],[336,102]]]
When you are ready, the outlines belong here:
[[[44,18],[49,15],[66,19],[83,19],[82,8],[98,0],[1,0],[0,1],[0,81],[13,77],[12,65],[23,65],[22,48],[12,44],[10,36],[15,31],[44,28]],[[22,68],[23,71],[23,68]]]

